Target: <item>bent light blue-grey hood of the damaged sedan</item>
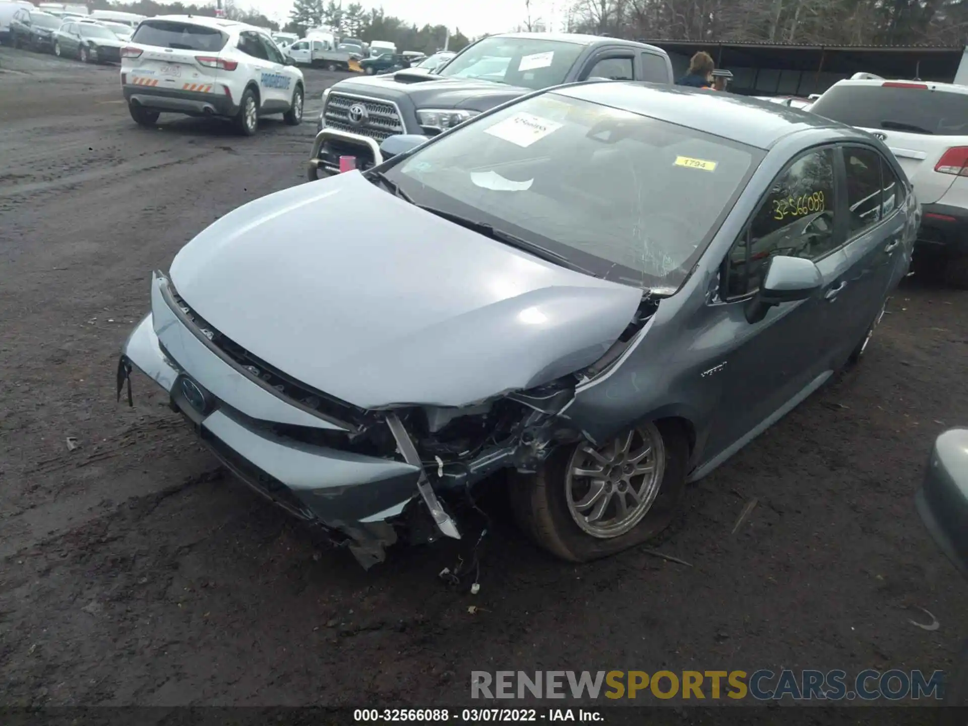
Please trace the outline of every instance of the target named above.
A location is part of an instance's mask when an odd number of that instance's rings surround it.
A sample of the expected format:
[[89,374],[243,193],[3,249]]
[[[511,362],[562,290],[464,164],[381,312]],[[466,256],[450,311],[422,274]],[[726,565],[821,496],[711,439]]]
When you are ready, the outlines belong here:
[[197,235],[171,282],[288,376],[361,408],[464,406],[590,365],[642,292],[531,257],[353,171]]

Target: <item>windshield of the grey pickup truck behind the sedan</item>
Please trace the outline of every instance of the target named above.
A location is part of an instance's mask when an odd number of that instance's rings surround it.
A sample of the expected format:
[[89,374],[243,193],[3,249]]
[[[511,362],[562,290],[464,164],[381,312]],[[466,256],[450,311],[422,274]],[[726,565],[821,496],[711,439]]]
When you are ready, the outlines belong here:
[[564,82],[584,45],[536,38],[485,38],[439,71],[538,90]]

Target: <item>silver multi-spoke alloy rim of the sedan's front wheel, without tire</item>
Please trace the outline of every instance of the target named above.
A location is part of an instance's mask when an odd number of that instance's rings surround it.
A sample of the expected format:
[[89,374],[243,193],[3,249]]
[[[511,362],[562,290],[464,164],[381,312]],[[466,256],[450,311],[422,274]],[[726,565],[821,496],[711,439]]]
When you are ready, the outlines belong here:
[[665,473],[665,444],[654,424],[643,424],[601,446],[579,446],[568,461],[568,512],[582,531],[610,539],[649,512]]

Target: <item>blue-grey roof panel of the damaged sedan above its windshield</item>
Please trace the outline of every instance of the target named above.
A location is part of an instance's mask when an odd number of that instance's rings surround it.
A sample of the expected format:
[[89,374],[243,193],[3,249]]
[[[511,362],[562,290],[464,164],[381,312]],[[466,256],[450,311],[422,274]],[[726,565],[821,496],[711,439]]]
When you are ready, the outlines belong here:
[[850,126],[797,108],[723,91],[613,80],[559,86],[548,93],[620,108],[761,149],[806,129],[829,128],[836,131],[832,136],[847,132],[867,137]]

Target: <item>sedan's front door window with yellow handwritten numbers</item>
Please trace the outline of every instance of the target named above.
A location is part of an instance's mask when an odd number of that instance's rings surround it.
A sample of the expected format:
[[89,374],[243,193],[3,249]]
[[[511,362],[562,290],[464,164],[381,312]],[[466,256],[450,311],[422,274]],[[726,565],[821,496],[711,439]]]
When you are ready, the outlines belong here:
[[840,247],[833,159],[830,148],[808,152],[773,180],[726,260],[727,299],[758,290],[770,257],[816,260]]

